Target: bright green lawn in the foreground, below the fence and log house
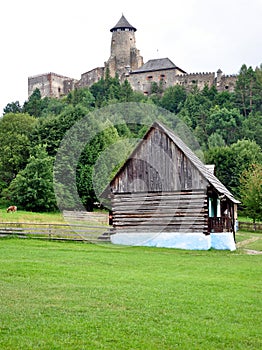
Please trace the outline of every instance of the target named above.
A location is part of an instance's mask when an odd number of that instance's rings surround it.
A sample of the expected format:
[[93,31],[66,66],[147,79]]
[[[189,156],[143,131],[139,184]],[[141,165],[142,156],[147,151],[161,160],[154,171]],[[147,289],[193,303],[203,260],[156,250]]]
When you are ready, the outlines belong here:
[[262,259],[0,240],[0,348],[261,349]]

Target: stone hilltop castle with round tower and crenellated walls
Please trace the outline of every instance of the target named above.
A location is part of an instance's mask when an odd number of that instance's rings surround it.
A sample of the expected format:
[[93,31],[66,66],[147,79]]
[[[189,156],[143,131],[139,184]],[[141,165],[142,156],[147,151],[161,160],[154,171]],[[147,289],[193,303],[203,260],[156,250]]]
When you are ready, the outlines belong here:
[[223,75],[220,69],[216,73],[187,73],[169,58],[151,59],[144,63],[140,51],[136,48],[136,30],[122,15],[117,24],[110,29],[111,53],[104,67],[81,74],[80,80],[56,73],[31,76],[28,78],[28,96],[38,88],[42,97],[59,98],[75,88],[90,87],[103,78],[107,70],[112,77],[117,74],[120,82],[127,79],[133,90],[145,95],[150,94],[153,82],[161,84],[163,89],[182,85],[187,89],[197,86],[201,90],[207,85],[209,88],[216,86],[218,91],[234,91],[237,76]]

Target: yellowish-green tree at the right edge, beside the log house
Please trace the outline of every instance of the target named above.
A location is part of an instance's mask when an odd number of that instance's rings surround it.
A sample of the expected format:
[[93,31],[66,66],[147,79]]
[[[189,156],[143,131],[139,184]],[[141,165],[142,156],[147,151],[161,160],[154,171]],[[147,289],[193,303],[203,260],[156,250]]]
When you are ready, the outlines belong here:
[[244,212],[256,221],[262,220],[262,165],[253,164],[245,170],[240,178],[241,201]]

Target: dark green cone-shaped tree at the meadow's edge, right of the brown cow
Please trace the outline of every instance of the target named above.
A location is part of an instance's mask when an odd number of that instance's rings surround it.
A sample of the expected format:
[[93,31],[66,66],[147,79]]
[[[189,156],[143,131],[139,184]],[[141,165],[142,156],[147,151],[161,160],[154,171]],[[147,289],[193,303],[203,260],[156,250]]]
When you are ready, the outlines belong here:
[[53,211],[56,199],[53,190],[53,158],[45,147],[36,146],[24,170],[11,182],[8,196],[23,209]]

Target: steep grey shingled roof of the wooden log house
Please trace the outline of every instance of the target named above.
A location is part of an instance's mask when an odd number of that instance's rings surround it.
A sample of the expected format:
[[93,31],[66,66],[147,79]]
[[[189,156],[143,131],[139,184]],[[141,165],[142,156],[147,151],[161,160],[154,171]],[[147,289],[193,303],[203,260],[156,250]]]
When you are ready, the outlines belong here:
[[[222,184],[222,182],[219,181],[219,179],[212,173],[212,171],[195,155],[195,153],[177,135],[175,135],[172,130],[170,130],[168,127],[166,127],[159,121],[154,122],[151,125],[151,127],[148,129],[148,131],[144,135],[144,138],[138,143],[138,145],[135,147],[135,149],[133,150],[129,158],[132,158],[135,155],[137,149],[140,147],[141,143],[144,142],[147,135],[150,133],[150,131],[153,128],[160,129],[162,132],[164,132],[174,142],[174,144],[181,150],[181,152],[185,154],[185,156],[189,159],[189,161],[193,163],[193,165],[202,174],[202,176],[208,181],[210,185],[212,185],[217,190],[217,192],[220,195],[226,196],[233,203],[240,203],[237,199],[234,198],[233,194]],[[114,179],[118,176],[118,174],[121,172],[121,170],[125,166],[126,166],[126,163],[119,169],[115,177],[111,180],[111,183],[113,183]]]

